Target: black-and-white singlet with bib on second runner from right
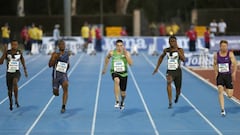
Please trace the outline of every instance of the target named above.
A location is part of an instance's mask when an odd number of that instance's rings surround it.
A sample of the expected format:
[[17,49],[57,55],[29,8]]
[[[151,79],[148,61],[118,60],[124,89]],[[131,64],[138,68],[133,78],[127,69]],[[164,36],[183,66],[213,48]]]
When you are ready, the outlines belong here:
[[[178,48],[179,49],[179,48]],[[168,70],[177,70],[180,68],[180,58],[177,51],[170,51],[170,48],[167,48],[167,69]]]

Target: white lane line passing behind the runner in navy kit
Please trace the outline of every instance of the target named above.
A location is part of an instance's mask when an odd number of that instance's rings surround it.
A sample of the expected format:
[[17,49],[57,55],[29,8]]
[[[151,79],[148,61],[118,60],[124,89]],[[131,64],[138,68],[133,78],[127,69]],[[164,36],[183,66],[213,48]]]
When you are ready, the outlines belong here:
[[[68,74],[68,77],[70,77],[70,75],[72,74],[72,72],[76,69],[77,65],[80,63],[80,61],[83,58],[83,54],[80,56],[80,58],[77,60],[77,62],[75,63],[75,65],[72,67],[71,71]],[[53,99],[55,98],[55,96],[53,95],[48,103],[45,105],[45,107],[43,108],[43,110],[41,111],[41,113],[38,115],[38,117],[36,118],[36,120],[33,122],[33,124],[31,125],[31,127],[27,130],[25,135],[29,135],[33,128],[37,125],[38,121],[42,118],[43,114],[46,112],[47,108],[49,107],[49,105],[52,103]]]

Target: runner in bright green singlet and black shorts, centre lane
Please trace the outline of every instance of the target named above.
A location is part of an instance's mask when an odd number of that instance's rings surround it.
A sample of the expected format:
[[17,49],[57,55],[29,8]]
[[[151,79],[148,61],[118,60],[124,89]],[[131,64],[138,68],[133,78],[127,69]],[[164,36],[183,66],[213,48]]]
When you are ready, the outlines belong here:
[[[102,71],[102,74],[106,73],[107,65],[109,63],[110,58],[112,58],[111,64],[111,75],[114,80],[114,94],[116,103],[114,105],[115,108],[124,109],[124,99],[126,97],[126,88],[127,88],[127,68],[128,65],[132,65],[132,59],[130,53],[124,48],[123,41],[116,41],[116,48],[114,50],[109,51],[105,58],[105,64]],[[119,94],[121,91],[121,102],[119,102]]]

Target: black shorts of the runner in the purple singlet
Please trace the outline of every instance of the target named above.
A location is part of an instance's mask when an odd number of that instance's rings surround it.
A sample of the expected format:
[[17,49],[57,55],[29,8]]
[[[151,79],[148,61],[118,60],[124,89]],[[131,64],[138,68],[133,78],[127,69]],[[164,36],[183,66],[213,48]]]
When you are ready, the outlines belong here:
[[233,89],[232,75],[231,74],[218,74],[217,85],[225,86],[226,89]]

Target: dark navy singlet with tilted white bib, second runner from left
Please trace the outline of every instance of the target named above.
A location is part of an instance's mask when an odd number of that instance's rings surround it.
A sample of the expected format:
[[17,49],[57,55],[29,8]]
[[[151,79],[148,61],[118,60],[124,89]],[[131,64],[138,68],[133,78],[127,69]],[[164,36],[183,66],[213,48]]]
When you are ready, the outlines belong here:
[[56,61],[53,70],[60,73],[66,73],[68,70],[69,55],[68,52],[64,52]]

